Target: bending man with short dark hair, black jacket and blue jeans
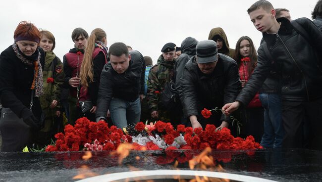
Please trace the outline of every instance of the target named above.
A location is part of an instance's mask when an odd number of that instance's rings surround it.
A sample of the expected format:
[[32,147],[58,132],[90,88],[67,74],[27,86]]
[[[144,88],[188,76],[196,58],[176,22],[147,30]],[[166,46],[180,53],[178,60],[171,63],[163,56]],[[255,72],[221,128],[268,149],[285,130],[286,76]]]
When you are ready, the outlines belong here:
[[96,120],[106,120],[107,110],[117,128],[140,120],[144,93],[145,62],[137,50],[128,51],[123,43],[114,43],[108,49],[110,62],[101,74]]

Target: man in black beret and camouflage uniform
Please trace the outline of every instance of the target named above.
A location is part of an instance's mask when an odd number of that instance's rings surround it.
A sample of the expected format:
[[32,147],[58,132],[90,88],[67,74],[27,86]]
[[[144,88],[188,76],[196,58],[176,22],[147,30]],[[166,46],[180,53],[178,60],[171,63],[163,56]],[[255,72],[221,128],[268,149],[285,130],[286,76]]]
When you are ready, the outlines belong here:
[[[161,92],[166,83],[170,82],[174,72],[175,44],[167,43],[161,49],[158,62],[149,73],[147,99],[151,117],[164,122],[171,122],[171,116],[161,104]],[[173,119],[174,120],[174,119]]]

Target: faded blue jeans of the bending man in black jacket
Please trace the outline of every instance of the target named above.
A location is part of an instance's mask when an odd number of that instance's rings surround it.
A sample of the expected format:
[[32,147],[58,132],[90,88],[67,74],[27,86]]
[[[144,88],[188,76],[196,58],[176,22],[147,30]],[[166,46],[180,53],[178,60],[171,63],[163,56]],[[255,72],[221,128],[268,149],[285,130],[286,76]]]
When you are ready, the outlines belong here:
[[113,97],[109,105],[110,117],[117,128],[125,128],[127,124],[136,124],[140,121],[141,101],[138,97],[130,102]]

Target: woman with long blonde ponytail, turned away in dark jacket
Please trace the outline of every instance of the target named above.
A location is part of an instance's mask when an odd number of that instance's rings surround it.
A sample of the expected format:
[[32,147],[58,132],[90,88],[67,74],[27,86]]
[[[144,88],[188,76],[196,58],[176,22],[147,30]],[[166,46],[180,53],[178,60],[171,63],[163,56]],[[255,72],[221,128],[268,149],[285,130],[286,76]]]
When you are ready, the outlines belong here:
[[96,28],[87,40],[80,71],[78,116],[95,121],[96,101],[101,72],[107,63],[107,38],[104,30]]

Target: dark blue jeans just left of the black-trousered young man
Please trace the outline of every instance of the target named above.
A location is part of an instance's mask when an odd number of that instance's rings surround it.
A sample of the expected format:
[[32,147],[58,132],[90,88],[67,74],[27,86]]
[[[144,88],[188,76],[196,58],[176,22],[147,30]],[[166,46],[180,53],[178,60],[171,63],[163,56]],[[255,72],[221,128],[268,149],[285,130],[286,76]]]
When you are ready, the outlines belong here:
[[266,148],[281,148],[284,137],[281,95],[261,93],[260,100],[264,107],[264,135],[261,145]]

